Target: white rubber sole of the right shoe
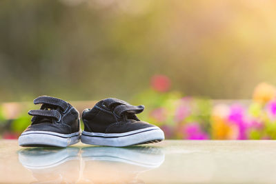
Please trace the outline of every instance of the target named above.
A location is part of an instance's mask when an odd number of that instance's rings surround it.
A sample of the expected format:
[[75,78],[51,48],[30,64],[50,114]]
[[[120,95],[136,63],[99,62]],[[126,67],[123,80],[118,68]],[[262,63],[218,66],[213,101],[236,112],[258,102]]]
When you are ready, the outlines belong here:
[[124,147],[143,143],[157,143],[164,139],[164,132],[159,127],[147,127],[140,130],[119,134],[104,134],[86,131],[83,131],[81,134],[82,143],[116,147]]

